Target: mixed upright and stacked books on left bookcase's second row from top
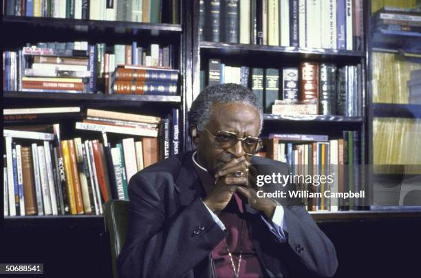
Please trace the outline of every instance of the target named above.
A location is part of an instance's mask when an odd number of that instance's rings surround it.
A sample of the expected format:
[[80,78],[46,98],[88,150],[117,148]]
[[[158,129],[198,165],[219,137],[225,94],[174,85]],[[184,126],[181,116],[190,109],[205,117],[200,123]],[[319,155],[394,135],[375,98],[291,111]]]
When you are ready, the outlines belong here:
[[[136,70],[147,72],[142,81],[155,82],[155,87],[160,80],[149,76],[171,74],[171,85],[175,87],[172,93],[177,91],[178,72],[170,70],[174,66],[173,46],[138,47],[136,42],[109,47],[105,43],[37,43],[17,52],[3,52],[3,88],[23,92],[118,94],[119,89],[111,89],[114,81],[111,78],[120,65],[138,66]],[[149,93],[159,94],[157,90],[142,89],[142,94]]]

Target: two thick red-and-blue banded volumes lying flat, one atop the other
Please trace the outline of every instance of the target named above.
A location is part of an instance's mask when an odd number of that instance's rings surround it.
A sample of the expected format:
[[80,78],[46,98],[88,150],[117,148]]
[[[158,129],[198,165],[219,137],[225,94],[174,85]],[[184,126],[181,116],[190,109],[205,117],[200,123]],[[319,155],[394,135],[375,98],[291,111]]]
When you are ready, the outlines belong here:
[[177,94],[175,69],[119,65],[111,76],[112,94]]

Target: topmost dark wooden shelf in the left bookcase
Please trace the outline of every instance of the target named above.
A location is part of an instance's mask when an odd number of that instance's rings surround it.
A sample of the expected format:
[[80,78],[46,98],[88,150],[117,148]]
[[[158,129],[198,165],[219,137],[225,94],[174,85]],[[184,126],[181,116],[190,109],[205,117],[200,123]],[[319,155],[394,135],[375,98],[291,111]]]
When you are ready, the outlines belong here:
[[168,23],[137,23],[125,21],[97,21],[81,19],[56,19],[52,17],[17,17],[3,16],[3,22],[23,23],[28,25],[54,26],[55,28],[86,27],[89,29],[100,28],[130,28],[133,30],[150,30],[151,32],[182,32],[180,24]]

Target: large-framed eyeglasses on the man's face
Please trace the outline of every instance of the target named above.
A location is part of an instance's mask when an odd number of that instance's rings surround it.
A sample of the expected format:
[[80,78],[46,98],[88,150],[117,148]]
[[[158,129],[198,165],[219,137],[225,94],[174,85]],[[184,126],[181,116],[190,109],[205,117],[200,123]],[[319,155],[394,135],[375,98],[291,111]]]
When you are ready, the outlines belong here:
[[[205,128],[206,131],[208,129]],[[241,141],[241,146],[244,151],[249,154],[255,154],[261,149],[261,139],[253,136],[246,136],[244,138],[238,137],[236,133],[230,131],[218,131],[216,135],[210,133],[209,135],[213,137],[213,144],[218,149],[228,149],[237,144],[238,141]]]

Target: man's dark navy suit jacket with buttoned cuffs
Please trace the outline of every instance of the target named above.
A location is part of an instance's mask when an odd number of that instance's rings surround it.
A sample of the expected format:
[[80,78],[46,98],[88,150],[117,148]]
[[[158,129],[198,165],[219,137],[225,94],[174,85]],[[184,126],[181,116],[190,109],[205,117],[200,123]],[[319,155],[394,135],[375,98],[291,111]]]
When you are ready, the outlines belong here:
[[[154,164],[129,182],[129,230],[117,260],[119,278],[212,277],[210,253],[226,237],[201,198],[192,153]],[[253,157],[252,163],[281,162]],[[283,206],[288,240],[279,243],[259,212],[244,205],[250,238],[265,277],[331,277],[338,262],[335,248],[303,206]],[[195,233],[193,233],[195,232]]]

